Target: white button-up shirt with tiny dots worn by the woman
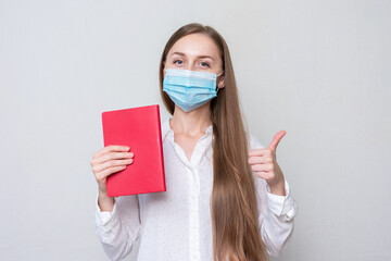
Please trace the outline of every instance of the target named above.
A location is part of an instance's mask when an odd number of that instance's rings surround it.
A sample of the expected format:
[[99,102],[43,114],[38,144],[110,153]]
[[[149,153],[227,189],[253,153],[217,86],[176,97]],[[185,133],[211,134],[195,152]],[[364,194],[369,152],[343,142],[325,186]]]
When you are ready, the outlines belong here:
[[[212,260],[212,139],[211,125],[189,162],[174,141],[169,120],[162,124],[166,191],[116,198],[112,212],[102,212],[97,203],[96,233],[111,260],[125,258],[140,236],[139,261]],[[250,135],[249,148],[263,147]],[[269,194],[255,174],[254,181],[262,239],[267,252],[277,256],[293,232],[295,202],[288,183],[283,197]]]

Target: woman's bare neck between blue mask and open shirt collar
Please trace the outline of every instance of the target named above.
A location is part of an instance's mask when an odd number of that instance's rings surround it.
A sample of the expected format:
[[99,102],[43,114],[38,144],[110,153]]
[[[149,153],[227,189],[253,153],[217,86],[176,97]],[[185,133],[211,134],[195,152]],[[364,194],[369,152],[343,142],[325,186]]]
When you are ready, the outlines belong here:
[[169,122],[174,133],[187,134],[189,136],[205,133],[206,128],[212,124],[210,105],[211,102],[207,102],[190,112],[185,112],[179,107],[175,105],[174,115]]

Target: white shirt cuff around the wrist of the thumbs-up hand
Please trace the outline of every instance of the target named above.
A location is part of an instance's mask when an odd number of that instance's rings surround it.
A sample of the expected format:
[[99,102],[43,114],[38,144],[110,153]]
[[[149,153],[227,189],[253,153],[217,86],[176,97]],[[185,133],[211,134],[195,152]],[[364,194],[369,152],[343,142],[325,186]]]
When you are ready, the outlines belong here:
[[270,188],[266,185],[267,206],[268,209],[279,216],[286,216],[286,220],[291,220],[295,215],[295,204],[290,197],[289,184],[285,181],[286,196],[270,194]]

